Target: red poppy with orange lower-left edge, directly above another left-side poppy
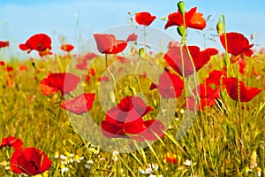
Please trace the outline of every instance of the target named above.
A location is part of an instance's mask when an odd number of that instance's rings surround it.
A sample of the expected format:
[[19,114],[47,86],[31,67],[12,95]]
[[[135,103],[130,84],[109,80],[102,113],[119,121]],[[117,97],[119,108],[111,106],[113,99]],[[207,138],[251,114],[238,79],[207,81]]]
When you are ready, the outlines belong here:
[[40,82],[40,88],[44,96],[49,96],[57,91],[61,91],[64,95],[64,93],[69,93],[75,89],[79,82],[79,77],[73,73],[49,73]]

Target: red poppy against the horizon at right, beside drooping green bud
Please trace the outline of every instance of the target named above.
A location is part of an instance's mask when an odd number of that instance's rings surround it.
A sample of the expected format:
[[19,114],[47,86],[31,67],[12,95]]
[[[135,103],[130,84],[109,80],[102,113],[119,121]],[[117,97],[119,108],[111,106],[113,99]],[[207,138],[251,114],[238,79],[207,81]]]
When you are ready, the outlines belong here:
[[[226,34],[227,39],[227,50],[233,56],[238,56],[239,54],[246,54],[246,56],[252,55],[253,51],[250,50],[254,44],[249,44],[246,37],[242,34],[231,32]],[[225,49],[224,34],[220,35],[220,41]]]

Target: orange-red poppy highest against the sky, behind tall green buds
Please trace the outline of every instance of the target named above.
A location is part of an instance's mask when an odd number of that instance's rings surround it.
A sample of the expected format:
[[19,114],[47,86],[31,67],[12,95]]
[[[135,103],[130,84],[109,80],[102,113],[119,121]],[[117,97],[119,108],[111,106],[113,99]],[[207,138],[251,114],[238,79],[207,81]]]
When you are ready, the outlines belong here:
[[[206,20],[202,17],[201,12],[196,12],[197,7],[193,7],[189,12],[185,12],[185,19],[186,19],[186,28],[191,27],[194,29],[202,30],[206,27]],[[183,17],[182,14],[178,12],[170,13],[168,16],[168,21],[164,26],[164,29],[172,26],[183,26]]]

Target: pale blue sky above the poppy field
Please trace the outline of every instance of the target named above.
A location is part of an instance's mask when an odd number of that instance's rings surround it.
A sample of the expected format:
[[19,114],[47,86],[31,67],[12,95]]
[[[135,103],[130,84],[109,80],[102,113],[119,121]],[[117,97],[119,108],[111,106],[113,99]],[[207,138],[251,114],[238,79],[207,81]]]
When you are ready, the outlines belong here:
[[[265,46],[265,1],[256,0],[186,0],[186,9],[198,7],[204,17],[212,15],[207,28],[202,32],[215,34],[210,28],[216,27],[216,20],[221,14],[226,18],[227,31],[236,31],[249,38],[255,35],[254,44]],[[163,30],[165,21],[160,19],[170,12],[175,12],[178,1],[172,0],[0,0],[0,40],[9,40],[13,48],[26,42],[36,33],[49,34],[55,48],[60,46],[59,36],[66,42],[79,44],[109,27],[128,24],[127,12],[148,11],[157,16],[152,27]],[[77,19],[78,22],[77,23]],[[165,31],[176,34],[176,28]],[[195,30],[190,30],[188,42],[202,45],[203,37]],[[206,42],[207,46],[220,47],[220,42]]]

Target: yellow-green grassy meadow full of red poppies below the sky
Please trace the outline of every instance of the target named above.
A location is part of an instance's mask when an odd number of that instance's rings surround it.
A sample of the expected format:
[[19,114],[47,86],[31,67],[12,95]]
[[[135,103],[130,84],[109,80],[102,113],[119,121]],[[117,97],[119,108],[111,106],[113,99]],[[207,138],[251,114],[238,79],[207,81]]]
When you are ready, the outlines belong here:
[[155,15],[131,15],[144,33],[95,33],[95,50],[33,34],[22,60],[0,42],[0,176],[264,176],[265,50],[224,17],[222,51],[189,46],[208,21],[183,2],[176,41],[152,50]]

